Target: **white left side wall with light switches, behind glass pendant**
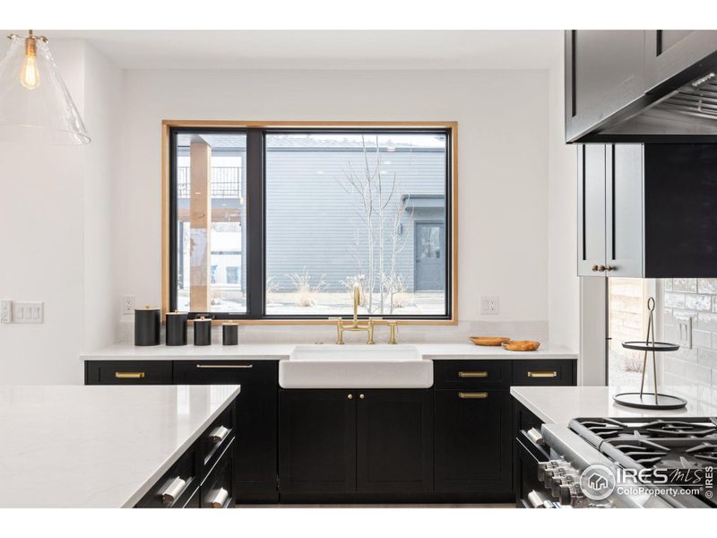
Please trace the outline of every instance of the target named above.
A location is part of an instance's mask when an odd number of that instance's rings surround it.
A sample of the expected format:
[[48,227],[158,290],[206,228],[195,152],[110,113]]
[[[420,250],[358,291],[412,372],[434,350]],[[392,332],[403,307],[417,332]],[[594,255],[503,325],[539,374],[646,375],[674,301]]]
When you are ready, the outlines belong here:
[[0,143],[0,297],[45,302],[44,324],[0,325],[0,384],[82,383],[78,353],[115,339],[106,234],[117,140],[108,118],[121,73],[79,40],[51,50],[93,142]]

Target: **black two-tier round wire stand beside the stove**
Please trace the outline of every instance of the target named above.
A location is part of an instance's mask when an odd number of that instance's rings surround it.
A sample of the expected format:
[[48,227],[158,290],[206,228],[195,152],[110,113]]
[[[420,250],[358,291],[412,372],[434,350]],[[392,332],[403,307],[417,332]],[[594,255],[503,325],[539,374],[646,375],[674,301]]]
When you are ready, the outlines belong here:
[[[620,393],[612,398],[620,405],[638,407],[640,409],[681,409],[687,405],[687,400],[678,396],[663,395],[657,390],[657,353],[665,351],[678,351],[677,343],[655,342],[654,310],[655,299],[647,299],[647,309],[650,315],[647,321],[647,335],[644,342],[626,342],[622,344],[626,350],[644,351],[643,379],[640,383],[640,392]],[[650,341],[652,334],[652,342]],[[652,351],[652,379],[654,390],[652,394],[644,391],[644,374],[647,370],[647,355]]]

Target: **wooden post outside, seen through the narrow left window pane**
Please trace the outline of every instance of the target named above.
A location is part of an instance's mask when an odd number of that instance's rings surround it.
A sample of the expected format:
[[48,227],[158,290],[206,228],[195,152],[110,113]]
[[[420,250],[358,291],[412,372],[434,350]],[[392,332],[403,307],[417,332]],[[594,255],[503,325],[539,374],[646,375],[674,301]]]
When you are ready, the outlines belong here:
[[189,144],[189,309],[208,312],[212,284],[212,148]]

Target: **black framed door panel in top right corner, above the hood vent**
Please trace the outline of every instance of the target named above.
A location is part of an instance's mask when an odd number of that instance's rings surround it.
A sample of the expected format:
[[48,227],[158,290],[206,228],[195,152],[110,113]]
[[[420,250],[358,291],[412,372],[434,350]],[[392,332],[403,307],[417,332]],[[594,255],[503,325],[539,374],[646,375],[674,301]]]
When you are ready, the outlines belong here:
[[[717,30],[645,30],[644,48],[645,85],[651,91],[695,64],[713,65],[707,56],[717,52]],[[687,78],[704,74],[700,70],[697,66]]]

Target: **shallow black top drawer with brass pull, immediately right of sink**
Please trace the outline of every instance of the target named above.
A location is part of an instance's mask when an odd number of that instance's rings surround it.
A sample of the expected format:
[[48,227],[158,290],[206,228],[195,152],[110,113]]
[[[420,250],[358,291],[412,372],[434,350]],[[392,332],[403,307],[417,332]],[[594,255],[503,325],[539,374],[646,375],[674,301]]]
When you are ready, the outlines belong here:
[[434,360],[436,388],[507,388],[510,360]]

